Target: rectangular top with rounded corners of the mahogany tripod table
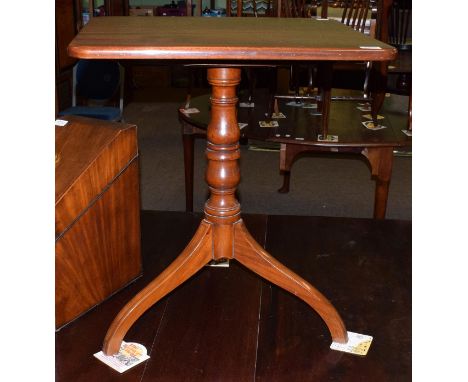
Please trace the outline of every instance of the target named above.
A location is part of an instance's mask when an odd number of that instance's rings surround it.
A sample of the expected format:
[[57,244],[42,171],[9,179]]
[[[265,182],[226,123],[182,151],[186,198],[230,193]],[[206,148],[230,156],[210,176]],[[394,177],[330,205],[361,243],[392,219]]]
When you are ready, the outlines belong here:
[[72,57],[195,61],[386,61],[396,49],[334,20],[251,17],[93,18]]

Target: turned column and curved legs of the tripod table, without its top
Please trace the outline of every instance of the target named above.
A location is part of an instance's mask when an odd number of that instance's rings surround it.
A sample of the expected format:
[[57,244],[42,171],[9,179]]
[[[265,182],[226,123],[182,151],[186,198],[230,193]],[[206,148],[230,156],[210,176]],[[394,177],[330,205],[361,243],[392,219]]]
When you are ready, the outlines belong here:
[[235,113],[240,68],[209,68],[208,81],[212,85],[212,117],[207,132],[206,181],[211,195],[205,204],[205,218],[179,257],[119,312],[107,331],[103,352],[117,353],[128,329],[147,309],[206,263],[218,259],[235,259],[299,297],[322,317],[333,341],[346,342],[346,328],[333,305],[269,255],[245,228],[235,197],[240,181],[240,133]]

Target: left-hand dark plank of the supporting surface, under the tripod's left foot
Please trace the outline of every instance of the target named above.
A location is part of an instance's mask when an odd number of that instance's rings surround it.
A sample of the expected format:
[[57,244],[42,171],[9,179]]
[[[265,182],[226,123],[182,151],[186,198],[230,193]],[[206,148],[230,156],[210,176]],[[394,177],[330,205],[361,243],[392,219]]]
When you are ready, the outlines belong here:
[[[102,347],[102,339],[120,309],[184,248],[202,216],[177,212],[143,211],[141,214],[141,253],[143,275],[77,320],[56,333],[56,380],[61,382],[142,381],[145,363],[118,374],[92,354]],[[127,333],[130,342],[144,345],[150,356],[156,334],[167,309],[165,298],[155,304]]]

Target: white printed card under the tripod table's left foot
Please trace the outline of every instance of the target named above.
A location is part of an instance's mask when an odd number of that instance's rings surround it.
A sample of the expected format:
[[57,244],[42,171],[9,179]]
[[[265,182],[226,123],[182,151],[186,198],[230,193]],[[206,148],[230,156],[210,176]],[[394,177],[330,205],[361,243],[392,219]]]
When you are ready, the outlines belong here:
[[123,373],[150,358],[146,347],[143,345],[137,344],[136,342],[124,341],[122,341],[117,354],[105,355],[100,351],[94,354],[94,356],[119,373]]

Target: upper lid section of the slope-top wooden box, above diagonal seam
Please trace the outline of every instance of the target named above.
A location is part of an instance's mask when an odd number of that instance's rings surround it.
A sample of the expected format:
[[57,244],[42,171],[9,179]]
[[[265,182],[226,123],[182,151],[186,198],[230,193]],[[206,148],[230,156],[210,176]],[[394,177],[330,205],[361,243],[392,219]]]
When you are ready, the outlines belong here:
[[134,125],[74,116],[62,119],[68,124],[55,128],[56,238],[138,155]]

